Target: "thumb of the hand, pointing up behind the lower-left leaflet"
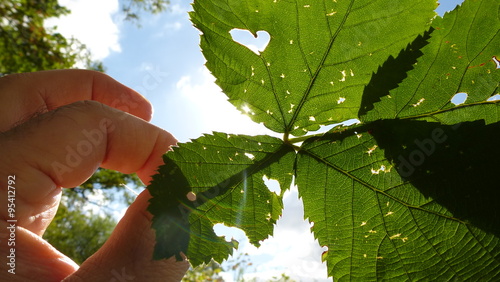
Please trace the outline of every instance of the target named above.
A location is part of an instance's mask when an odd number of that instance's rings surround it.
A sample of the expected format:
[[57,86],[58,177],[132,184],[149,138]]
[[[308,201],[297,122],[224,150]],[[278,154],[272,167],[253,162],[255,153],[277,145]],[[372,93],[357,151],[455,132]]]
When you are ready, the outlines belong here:
[[149,191],[143,191],[102,248],[65,281],[180,281],[189,268],[187,261],[152,260],[156,240],[146,210],[150,198]]

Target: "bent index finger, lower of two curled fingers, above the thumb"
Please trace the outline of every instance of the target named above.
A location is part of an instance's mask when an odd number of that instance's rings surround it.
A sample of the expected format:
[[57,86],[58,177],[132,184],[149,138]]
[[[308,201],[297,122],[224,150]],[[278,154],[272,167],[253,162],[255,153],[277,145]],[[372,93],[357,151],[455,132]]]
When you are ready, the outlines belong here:
[[[99,166],[137,172],[147,181],[175,142],[142,119],[80,101],[0,135],[0,175],[16,175],[18,225],[40,235],[53,216],[47,210],[60,197],[60,187],[80,185]],[[7,206],[7,199],[2,201]],[[0,213],[7,218],[5,209]]]

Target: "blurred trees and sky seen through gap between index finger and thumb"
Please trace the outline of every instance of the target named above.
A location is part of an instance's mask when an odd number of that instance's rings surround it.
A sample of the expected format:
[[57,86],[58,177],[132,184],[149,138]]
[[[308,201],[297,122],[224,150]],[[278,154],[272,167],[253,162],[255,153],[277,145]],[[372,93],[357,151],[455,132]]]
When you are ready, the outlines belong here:
[[[132,191],[124,185],[133,187],[129,188]],[[117,210],[109,206],[121,203],[125,208],[141,185],[135,174],[99,168],[82,185],[63,190],[59,209],[43,238],[76,263],[82,263],[106,242],[117,223]]]

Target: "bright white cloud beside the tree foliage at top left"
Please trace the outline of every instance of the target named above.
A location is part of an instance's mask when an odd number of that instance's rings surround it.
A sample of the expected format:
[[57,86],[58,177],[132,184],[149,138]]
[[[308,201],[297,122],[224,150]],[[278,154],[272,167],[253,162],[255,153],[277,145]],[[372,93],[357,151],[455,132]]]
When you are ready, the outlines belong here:
[[59,4],[71,13],[48,19],[47,27],[57,26],[57,31],[65,37],[78,39],[89,48],[94,60],[103,60],[111,52],[121,51],[119,28],[113,22],[118,0],[60,0]]

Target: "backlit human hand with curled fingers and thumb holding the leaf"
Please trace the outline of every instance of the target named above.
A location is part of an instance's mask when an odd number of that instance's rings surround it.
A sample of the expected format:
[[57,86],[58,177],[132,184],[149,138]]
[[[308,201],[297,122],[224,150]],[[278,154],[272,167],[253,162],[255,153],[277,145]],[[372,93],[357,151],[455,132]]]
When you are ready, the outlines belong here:
[[[0,109],[0,281],[182,279],[187,260],[152,260],[147,190],[81,266],[41,238],[62,189],[80,185],[98,167],[150,182],[176,140],[148,122],[153,110],[144,97],[102,73],[57,70],[0,78]],[[15,275],[6,264],[9,176],[15,176]]]

